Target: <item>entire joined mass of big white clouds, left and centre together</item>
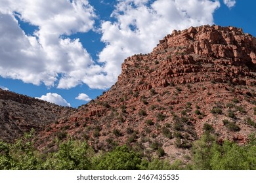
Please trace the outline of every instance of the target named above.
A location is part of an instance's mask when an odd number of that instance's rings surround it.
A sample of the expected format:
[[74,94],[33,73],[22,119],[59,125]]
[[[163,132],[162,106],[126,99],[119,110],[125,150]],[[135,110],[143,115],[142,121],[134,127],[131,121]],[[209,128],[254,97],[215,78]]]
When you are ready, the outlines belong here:
[[[211,0],[118,0],[114,21],[102,20],[99,27],[106,46],[98,54],[98,65],[79,39],[67,38],[96,30],[95,9],[88,0],[3,0],[0,76],[57,88],[109,88],[127,56],[151,52],[173,29],[213,24],[219,7],[219,1]],[[16,16],[38,29],[26,35]]]

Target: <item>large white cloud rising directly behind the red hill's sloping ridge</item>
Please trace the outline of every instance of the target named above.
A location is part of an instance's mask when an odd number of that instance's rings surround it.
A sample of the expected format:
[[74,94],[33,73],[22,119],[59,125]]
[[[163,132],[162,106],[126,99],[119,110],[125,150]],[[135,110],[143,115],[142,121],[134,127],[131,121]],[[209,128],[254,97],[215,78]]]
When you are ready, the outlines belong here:
[[[102,23],[102,41],[106,47],[99,54],[108,75],[97,82],[113,84],[123,59],[133,54],[148,53],[173,29],[191,25],[213,24],[213,12],[219,1],[209,0],[119,0],[112,17],[116,22]],[[100,80],[102,79],[102,80]],[[110,85],[109,85],[110,86]]]

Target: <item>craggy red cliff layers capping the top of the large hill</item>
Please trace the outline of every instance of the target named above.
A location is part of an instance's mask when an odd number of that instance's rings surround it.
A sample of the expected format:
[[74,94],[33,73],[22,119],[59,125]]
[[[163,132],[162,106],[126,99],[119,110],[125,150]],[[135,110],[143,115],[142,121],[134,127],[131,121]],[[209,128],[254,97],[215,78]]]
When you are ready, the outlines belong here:
[[[236,27],[190,27],[167,35],[151,54],[125,59],[123,78],[145,76],[150,86],[218,81],[254,86],[256,39]],[[150,67],[160,63],[159,68]],[[206,75],[204,73],[207,73]],[[147,76],[154,78],[149,80]],[[139,87],[138,90],[144,90]]]

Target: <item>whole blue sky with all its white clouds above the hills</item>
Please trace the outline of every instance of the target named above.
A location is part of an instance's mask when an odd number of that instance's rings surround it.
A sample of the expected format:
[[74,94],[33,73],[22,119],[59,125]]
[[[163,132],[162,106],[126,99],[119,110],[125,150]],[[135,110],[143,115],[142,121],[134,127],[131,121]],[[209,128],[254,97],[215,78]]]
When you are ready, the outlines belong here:
[[256,36],[254,0],[0,0],[0,88],[79,107],[128,56],[173,29],[216,24]]

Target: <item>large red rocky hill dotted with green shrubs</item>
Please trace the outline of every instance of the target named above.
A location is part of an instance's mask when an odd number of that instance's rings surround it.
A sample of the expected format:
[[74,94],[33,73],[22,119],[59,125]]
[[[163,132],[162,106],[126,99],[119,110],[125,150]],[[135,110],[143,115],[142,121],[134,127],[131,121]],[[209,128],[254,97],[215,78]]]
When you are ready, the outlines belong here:
[[108,92],[47,125],[35,142],[43,149],[72,137],[96,150],[127,143],[146,156],[158,144],[178,158],[205,130],[244,143],[256,126],[255,53],[255,37],[236,27],[173,31],[150,54],[125,59]]

